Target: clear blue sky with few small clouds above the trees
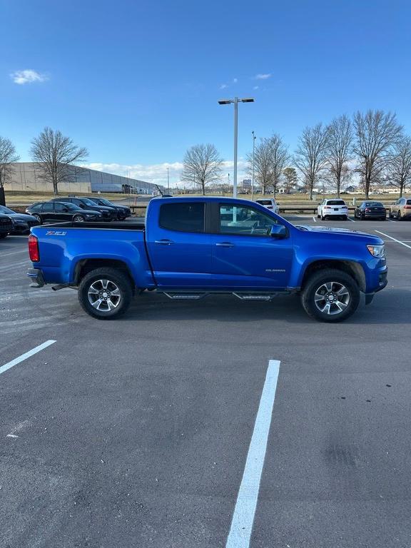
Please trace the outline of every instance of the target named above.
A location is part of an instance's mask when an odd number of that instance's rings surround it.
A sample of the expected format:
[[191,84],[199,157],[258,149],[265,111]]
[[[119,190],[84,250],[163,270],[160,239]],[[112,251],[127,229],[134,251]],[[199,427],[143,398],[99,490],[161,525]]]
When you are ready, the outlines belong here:
[[293,149],[304,126],[357,109],[411,132],[406,1],[0,0],[0,19],[0,135],[24,161],[47,125],[114,173],[164,183],[169,166],[175,183],[208,142],[231,171],[233,107],[217,101],[235,95],[255,98],[240,158],[253,130]]

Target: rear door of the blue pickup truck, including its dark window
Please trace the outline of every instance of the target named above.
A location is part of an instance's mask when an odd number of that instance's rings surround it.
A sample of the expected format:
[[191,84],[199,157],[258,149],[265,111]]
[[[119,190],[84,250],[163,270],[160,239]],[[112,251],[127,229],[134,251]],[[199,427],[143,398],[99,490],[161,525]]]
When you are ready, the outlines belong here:
[[162,288],[209,288],[211,242],[205,233],[206,204],[161,201],[151,206],[146,228],[148,256]]

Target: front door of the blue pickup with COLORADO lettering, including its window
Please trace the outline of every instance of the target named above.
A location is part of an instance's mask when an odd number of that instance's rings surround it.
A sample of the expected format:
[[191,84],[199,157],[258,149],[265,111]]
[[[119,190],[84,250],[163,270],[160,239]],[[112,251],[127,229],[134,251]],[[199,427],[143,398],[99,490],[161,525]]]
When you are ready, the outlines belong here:
[[214,283],[220,288],[282,289],[288,286],[293,241],[270,236],[280,223],[253,206],[221,203],[218,234],[212,235]]

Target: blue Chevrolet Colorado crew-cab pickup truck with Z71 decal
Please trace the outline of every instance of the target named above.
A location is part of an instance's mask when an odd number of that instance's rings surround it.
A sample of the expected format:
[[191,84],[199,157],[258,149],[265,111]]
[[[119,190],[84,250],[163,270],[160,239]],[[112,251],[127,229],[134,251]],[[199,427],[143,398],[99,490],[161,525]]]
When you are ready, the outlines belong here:
[[316,320],[337,322],[387,285],[384,243],[343,228],[299,226],[234,198],[153,198],[145,223],[58,223],[29,236],[31,287],[78,288],[89,315],[126,312],[135,293],[170,298],[298,293]]

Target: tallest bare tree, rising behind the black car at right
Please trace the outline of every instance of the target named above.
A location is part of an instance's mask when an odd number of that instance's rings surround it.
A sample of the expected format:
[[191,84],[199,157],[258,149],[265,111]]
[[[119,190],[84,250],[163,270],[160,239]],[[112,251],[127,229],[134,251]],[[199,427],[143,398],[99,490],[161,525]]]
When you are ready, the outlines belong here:
[[355,142],[353,151],[359,160],[357,172],[364,185],[365,198],[370,186],[382,178],[395,156],[395,146],[402,138],[402,126],[394,113],[383,111],[357,111],[354,116]]

